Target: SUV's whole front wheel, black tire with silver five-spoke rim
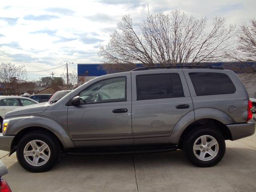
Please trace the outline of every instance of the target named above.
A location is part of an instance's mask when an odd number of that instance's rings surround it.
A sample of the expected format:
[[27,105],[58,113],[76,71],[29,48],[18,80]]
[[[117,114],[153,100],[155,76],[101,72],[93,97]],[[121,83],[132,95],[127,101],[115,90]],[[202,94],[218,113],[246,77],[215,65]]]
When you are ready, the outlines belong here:
[[21,138],[16,156],[20,165],[30,172],[45,172],[58,161],[60,145],[47,132],[31,132]]

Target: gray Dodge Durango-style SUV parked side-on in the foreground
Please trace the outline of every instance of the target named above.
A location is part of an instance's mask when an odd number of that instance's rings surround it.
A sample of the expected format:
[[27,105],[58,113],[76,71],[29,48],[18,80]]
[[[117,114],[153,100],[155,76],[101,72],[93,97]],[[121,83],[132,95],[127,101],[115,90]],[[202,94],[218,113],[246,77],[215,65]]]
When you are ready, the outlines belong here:
[[116,154],[182,149],[190,162],[220,162],[225,140],[254,134],[252,103],[230,70],[137,68],[100,76],[54,102],[8,112],[0,150],[16,151],[31,172],[52,168],[60,152]]

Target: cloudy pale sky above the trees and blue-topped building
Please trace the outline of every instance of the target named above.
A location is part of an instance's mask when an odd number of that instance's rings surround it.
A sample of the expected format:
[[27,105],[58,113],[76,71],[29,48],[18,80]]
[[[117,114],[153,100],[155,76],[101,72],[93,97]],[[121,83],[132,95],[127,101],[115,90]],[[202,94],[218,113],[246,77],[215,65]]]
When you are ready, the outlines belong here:
[[[122,16],[141,22],[148,6],[150,14],[180,10],[208,18],[209,26],[214,16],[222,16],[239,27],[255,17],[256,0],[2,0],[0,63],[24,64],[27,80],[52,72],[61,76],[66,63],[69,72],[78,63],[100,63],[99,47],[108,44]],[[48,71],[35,72],[40,70]]]

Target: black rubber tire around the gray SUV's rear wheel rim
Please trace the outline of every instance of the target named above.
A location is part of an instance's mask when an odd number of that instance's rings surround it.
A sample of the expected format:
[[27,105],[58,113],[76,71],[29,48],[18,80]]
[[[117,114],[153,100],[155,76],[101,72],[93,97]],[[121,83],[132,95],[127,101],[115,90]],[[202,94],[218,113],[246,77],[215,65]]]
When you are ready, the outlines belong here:
[[[208,136],[212,136],[213,138],[215,138],[218,142],[218,153],[216,154],[216,156],[214,158],[212,158],[210,156],[210,154],[206,154],[206,156],[209,156],[209,160],[200,160],[196,154],[194,153],[194,143],[196,142],[196,140],[200,137],[200,136],[204,136],[204,135],[208,135]],[[200,142],[200,140],[199,140]],[[199,144],[201,145],[201,144]],[[207,148],[207,146],[205,146]],[[214,149],[214,147],[213,147]],[[183,150],[185,151],[185,154],[188,158],[188,160],[198,166],[198,167],[210,167],[210,166],[214,166],[216,164],[218,164],[218,162],[220,162],[220,160],[222,160],[224,154],[225,154],[225,150],[226,150],[226,144],[225,144],[225,140],[222,136],[222,134],[217,131],[214,130],[212,128],[208,128],[207,126],[200,126],[198,127],[196,130],[192,130],[191,132],[189,132],[184,140],[183,143]],[[204,148],[202,149],[204,150]],[[210,149],[209,149],[210,150]],[[208,153],[206,150],[204,150],[206,153]],[[198,150],[196,151],[196,153],[199,154],[202,151]]]

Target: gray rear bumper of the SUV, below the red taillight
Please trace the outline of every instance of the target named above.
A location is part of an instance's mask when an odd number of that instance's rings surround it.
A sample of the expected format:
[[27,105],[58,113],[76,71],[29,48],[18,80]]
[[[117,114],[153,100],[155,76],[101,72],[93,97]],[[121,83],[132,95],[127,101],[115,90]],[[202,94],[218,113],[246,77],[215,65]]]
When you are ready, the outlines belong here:
[[255,123],[254,122],[229,124],[226,126],[228,126],[228,128],[231,132],[232,141],[251,136],[255,132]]

